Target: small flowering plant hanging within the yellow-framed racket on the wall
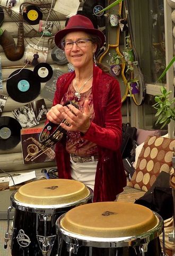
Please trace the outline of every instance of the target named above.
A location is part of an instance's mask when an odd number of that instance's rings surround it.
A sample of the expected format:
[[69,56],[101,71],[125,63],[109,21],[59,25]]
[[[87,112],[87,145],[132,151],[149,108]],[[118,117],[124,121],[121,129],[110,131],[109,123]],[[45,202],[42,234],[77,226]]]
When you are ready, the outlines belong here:
[[109,67],[113,75],[119,76],[121,71],[121,58],[123,56],[118,55],[117,53],[109,53],[110,60],[109,60]]

